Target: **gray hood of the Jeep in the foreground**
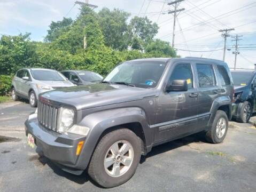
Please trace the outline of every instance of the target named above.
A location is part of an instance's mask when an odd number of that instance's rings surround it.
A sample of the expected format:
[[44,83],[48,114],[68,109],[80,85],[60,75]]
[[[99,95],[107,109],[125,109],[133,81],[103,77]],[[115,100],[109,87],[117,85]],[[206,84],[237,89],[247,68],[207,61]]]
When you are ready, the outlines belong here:
[[77,110],[154,97],[156,90],[117,84],[92,84],[61,88],[40,95],[40,100],[63,103]]

